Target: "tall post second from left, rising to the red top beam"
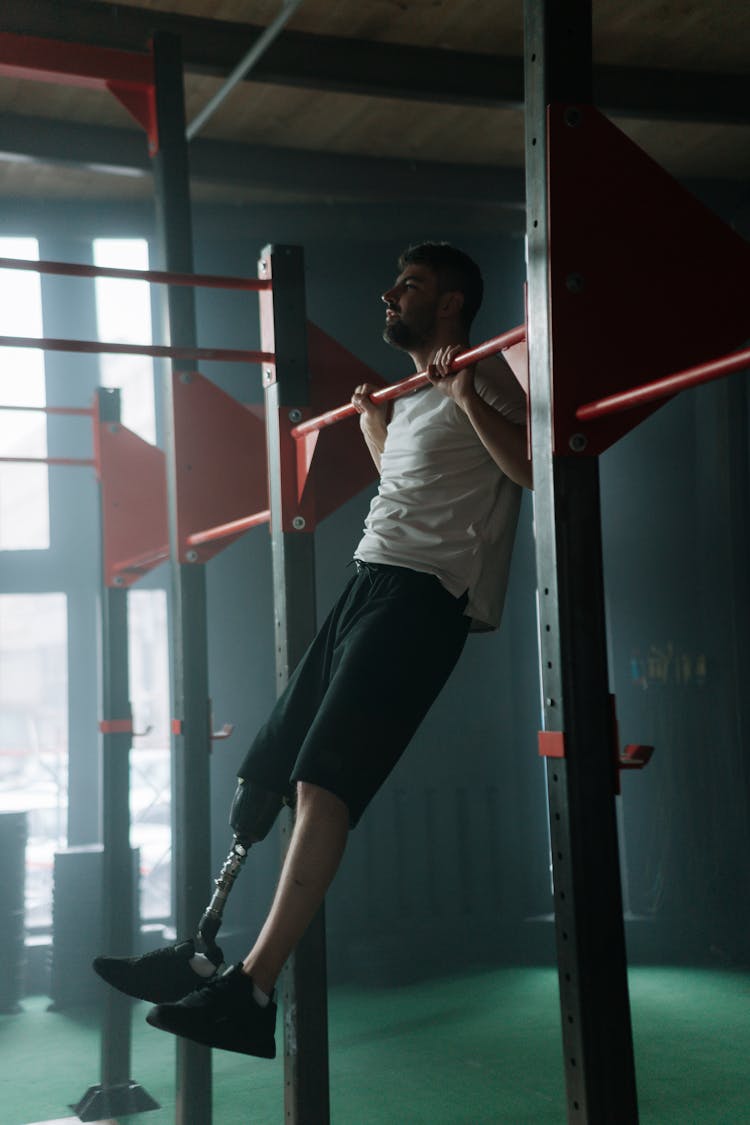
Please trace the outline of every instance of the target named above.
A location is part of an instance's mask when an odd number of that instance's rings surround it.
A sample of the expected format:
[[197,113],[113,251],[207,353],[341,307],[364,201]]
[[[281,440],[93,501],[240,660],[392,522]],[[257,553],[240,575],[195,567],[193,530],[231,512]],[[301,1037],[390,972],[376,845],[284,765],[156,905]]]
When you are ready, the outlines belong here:
[[[154,36],[159,151],[154,156],[156,219],[161,267],[191,273],[192,219],[186,142],[182,60],[175,36]],[[188,346],[196,342],[195,292],[168,288],[170,336]],[[178,536],[178,451],[174,380],[189,378],[189,361],[174,360],[164,381],[164,439],[172,560],[172,636],[174,685],[173,872],[175,925],[180,937],[195,933],[210,890],[209,754],[210,703],[206,622],[206,575],[200,564],[180,559]],[[211,1060],[208,1047],[178,1040],[177,1125],[210,1125]]]

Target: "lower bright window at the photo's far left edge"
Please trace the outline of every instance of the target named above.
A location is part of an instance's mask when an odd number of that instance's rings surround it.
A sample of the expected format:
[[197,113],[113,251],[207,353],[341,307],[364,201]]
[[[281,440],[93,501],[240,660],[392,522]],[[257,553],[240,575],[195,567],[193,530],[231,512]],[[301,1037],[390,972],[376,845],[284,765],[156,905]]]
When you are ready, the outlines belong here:
[[0,595],[0,813],[26,812],[26,925],[52,921],[54,854],[67,843],[67,606]]

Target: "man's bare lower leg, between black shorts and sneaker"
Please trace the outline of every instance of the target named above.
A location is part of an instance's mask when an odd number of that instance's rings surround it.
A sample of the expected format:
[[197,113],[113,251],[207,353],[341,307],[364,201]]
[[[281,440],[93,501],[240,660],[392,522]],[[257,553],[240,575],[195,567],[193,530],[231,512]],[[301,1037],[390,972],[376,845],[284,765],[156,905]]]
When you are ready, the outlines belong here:
[[349,809],[318,785],[299,782],[297,817],[271,910],[243,971],[268,996],[323,902],[349,835]]

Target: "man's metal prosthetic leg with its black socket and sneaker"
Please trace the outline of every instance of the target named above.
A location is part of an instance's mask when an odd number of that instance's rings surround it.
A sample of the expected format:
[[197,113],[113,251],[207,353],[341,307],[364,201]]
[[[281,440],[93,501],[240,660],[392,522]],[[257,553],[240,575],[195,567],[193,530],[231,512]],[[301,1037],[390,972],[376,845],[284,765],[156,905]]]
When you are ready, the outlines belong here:
[[[232,848],[215,891],[198,924],[196,938],[154,950],[138,957],[97,957],[94,971],[112,988],[152,1004],[171,1004],[206,984],[207,976],[193,968],[196,954],[202,953],[218,970],[224,954],[216,943],[224,907],[253,844],[265,839],[279,814],[284,798],[240,778],[229,810],[234,831]],[[210,966],[207,966],[210,969]]]

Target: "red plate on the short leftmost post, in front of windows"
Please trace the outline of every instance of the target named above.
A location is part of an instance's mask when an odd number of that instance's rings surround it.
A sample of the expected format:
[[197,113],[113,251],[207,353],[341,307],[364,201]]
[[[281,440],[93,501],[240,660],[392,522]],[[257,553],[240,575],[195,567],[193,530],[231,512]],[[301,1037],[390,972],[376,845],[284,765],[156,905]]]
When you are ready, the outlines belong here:
[[132,586],[169,558],[164,453],[119,422],[93,421],[105,583]]

